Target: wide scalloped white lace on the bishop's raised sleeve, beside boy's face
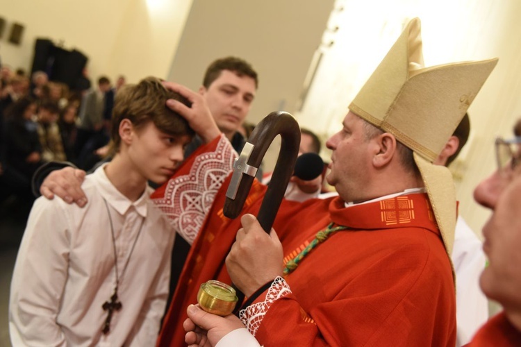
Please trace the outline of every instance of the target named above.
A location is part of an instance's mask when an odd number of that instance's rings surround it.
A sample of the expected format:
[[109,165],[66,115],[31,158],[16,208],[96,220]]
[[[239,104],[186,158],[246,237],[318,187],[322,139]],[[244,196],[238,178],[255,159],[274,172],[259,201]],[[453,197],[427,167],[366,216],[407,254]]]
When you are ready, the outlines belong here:
[[233,170],[237,156],[228,139],[221,135],[215,151],[198,155],[189,174],[174,176],[167,183],[165,195],[154,198],[174,230],[189,244],[197,237],[215,194]]

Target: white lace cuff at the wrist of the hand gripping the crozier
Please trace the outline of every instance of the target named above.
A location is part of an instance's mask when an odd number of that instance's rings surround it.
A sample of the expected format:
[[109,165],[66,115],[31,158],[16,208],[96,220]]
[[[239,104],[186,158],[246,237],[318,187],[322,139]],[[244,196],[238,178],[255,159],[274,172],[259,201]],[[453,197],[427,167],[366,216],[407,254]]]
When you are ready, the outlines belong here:
[[274,279],[270,289],[267,289],[266,298],[262,303],[255,303],[254,305],[246,307],[245,310],[240,310],[239,318],[249,332],[251,332],[251,335],[256,335],[258,327],[261,325],[272,303],[290,293],[291,289],[288,283],[278,276]]

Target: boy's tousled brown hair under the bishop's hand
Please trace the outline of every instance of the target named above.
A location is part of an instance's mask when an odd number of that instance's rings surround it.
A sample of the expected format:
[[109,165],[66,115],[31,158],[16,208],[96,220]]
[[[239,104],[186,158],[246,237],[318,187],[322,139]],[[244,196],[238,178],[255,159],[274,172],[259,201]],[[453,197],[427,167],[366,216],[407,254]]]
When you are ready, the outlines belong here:
[[191,106],[190,101],[179,93],[167,90],[161,81],[155,77],[144,78],[137,85],[124,85],[116,94],[112,122],[110,124],[111,152],[119,151],[121,137],[119,137],[119,124],[123,119],[129,119],[136,130],[140,130],[149,122],[163,133],[173,137],[195,133],[188,121],[177,112],[170,110],[167,99],[174,99]]

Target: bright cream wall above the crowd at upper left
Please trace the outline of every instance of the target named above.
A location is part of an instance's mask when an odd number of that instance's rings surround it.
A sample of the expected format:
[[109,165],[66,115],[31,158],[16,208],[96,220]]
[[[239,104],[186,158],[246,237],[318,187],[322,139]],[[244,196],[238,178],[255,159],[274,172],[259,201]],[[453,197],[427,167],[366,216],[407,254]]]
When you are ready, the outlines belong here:
[[[166,78],[192,0],[0,0],[8,22],[0,39],[3,64],[29,71],[37,37],[89,58],[94,82],[101,74],[124,74],[131,82],[144,76]],[[22,44],[8,42],[10,25],[25,26]]]

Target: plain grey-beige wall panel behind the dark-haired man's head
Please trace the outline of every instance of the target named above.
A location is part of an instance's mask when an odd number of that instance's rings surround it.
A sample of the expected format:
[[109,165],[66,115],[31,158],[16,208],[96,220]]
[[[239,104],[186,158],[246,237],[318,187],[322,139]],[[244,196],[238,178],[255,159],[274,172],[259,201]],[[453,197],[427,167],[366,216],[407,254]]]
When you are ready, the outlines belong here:
[[[332,6],[333,0],[195,0],[168,79],[197,90],[210,62],[239,56],[259,78],[247,120],[293,113]],[[279,143],[277,137],[265,155],[265,170],[273,169]]]

